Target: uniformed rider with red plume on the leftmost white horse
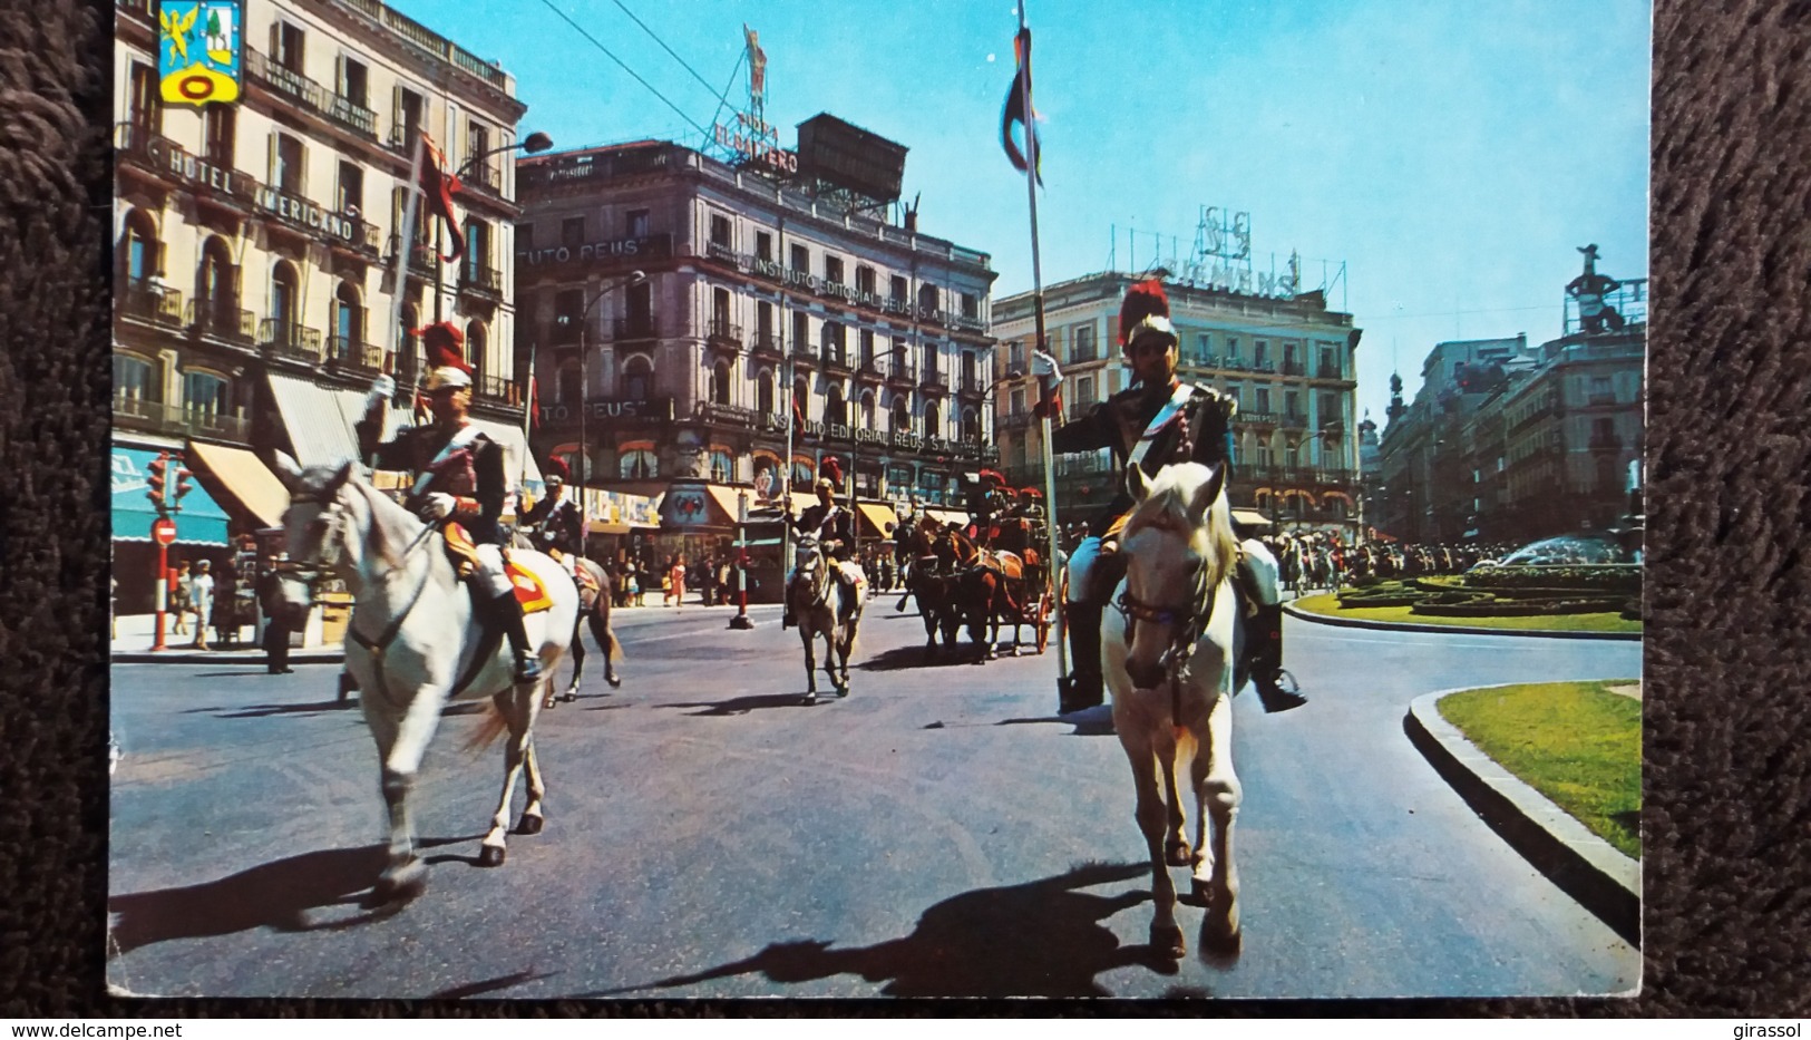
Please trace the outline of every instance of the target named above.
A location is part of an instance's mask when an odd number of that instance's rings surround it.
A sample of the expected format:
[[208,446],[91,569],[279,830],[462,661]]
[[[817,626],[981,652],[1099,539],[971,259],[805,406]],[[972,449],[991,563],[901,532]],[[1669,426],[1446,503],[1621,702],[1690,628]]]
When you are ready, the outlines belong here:
[[476,567],[467,578],[473,585],[473,605],[482,620],[503,629],[516,658],[516,681],[527,683],[541,676],[540,654],[529,643],[522,623],[522,603],[514,583],[503,569],[503,500],[509,496],[509,478],[503,473],[503,446],[485,437],[467,419],[471,409],[471,366],[465,364],[465,337],[453,323],[420,330],[422,346],[433,370],[427,373],[427,406],[435,419],[427,426],[413,426],[382,442],[384,409],[397,382],[378,375],[366,395],[364,419],[355,426],[359,453],[375,458],[377,469],[400,469],[411,475],[402,506],[446,531],[458,524],[476,549]]

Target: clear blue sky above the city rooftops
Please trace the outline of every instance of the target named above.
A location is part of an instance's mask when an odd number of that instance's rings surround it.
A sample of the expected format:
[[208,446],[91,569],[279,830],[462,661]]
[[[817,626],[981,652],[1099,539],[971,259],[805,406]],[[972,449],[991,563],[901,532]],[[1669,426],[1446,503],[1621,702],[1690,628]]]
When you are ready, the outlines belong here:
[[[992,254],[996,297],[1032,284],[1025,181],[1000,150],[1011,0],[389,2],[502,62],[529,105],[523,132],[560,149],[699,147],[699,125],[728,112],[717,92],[746,101],[746,22],[768,56],[766,112],[782,145],[819,112],[907,145],[904,194],[922,194],[920,226]],[[1201,207],[1246,210],[1260,270],[1297,250],[1311,288],[1322,261],[1329,272],[1344,261],[1331,303],[1365,330],[1358,406],[1382,422],[1391,370],[1413,393],[1436,342],[1559,335],[1577,246],[1597,243],[1606,274],[1646,275],[1646,0],[1034,0],[1027,11],[1045,284],[1110,259],[1150,266],[1155,236],[1164,255],[1172,237],[1186,255]]]

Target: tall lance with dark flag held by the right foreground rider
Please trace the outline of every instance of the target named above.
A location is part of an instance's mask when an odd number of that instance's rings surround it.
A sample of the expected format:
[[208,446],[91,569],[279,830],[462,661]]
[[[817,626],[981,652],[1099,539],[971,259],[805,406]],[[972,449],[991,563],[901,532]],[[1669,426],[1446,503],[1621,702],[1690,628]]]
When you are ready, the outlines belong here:
[[[1018,58],[1018,69],[1012,76],[1012,91],[1007,92],[1005,111],[1000,116],[1000,143],[1005,149],[1007,161],[1012,163],[1012,169],[1025,174],[1025,196],[1030,201],[1030,284],[1038,337],[1038,342],[1032,346],[1032,371],[1038,375],[1041,388],[1038,415],[1041,419],[1043,433],[1045,533],[1049,536],[1050,549],[1047,594],[1052,602],[1059,602],[1061,598],[1058,596],[1058,591],[1063,585],[1058,580],[1058,569],[1063,565],[1063,554],[1061,545],[1058,544],[1058,531],[1061,531],[1061,525],[1056,520],[1056,462],[1050,455],[1050,431],[1054,419],[1061,411],[1058,388],[1063,373],[1058,371],[1056,359],[1049,353],[1049,339],[1045,337],[1043,326],[1043,266],[1038,257],[1038,188],[1043,187],[1043,150],[1038,147],[1038,109],[1032,107],[1030,101],[1030,25],[1025,22],[1025,0],[1020,0],[1018,14],[1020,31],[1012,40],[1012,53]],[[1023,152],[1012,141],[1014,123],[1018,123],[1023,130]],[[1058,679],[1059,683],[1067,681],[1068,641],[1065,640],[1061,609],[1056,612],[1056,674],[1061,676]]]

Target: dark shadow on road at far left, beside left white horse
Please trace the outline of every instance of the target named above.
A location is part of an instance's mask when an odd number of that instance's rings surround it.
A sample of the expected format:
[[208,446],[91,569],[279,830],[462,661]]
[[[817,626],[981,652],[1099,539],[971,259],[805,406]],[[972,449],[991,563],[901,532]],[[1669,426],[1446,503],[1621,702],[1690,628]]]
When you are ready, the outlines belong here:
[[254,928],[317,931],[382,917],[313,920],[313,910],[353,906],[384,870],[384,846],[330,848],[254,866],[252,870],[188,888],[159,888],[107,900],[118,915],[110,928],[110,957],[172,939],[232,935]]

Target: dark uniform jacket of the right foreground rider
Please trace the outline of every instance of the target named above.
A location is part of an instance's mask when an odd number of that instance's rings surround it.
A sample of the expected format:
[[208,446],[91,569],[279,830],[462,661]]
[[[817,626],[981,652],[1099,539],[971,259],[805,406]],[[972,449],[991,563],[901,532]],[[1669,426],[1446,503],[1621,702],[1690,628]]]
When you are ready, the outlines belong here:
[[[1108,504],[1107,513],[1088,529],[1088,534],[1105,534],[1116,520],[1132,509],[1132,496],[1126,495],[1123,480],[1126,462],[1132,458],[1132,449],[1137,448],[1150,420],[1170,402],[1172,393],[1174,390],[1168,386],[1157,388],[1152,393],[1146,393],[1143,386],[1121,390],[1094,406],[1081,419],[1065,422],[1050,435],[1050,451],[1054,455],[1074,455],[1101,448],[1110,448],[1114,453],[1114,471],[1121,477],[1116,480],[1117,495]],[[1188,462],[1221,466],[1231,457],[1231,417],[1235,408],[1237,404],[1230,397],[1204,386],[1195,388],[1193,397],[1183,406],[1190,440],[1190,444],[1183,446],[1183,451]],[[1146,477],[1155,477],[1159,469],[1177,460],[1181,431],[1183,426],[1172,420],[1157,435],[1139,466]]]

